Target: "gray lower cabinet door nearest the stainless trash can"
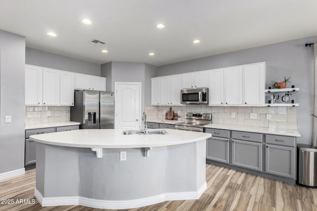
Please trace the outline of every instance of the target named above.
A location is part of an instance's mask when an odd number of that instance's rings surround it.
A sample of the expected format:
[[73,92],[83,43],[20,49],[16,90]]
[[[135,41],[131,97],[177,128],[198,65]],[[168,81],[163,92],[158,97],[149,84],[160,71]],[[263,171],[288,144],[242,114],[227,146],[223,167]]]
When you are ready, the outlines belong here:
[[266,144],[265,172],[295,178],[295,148]]

